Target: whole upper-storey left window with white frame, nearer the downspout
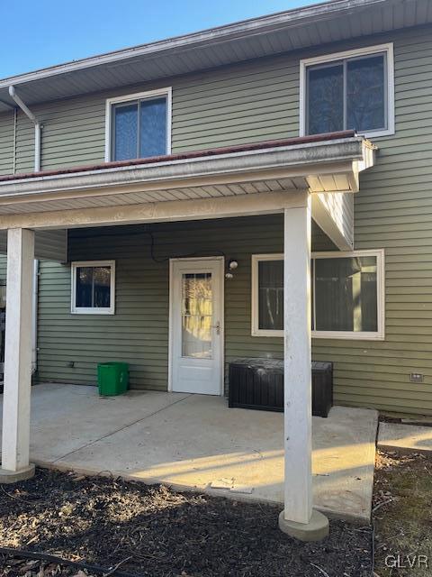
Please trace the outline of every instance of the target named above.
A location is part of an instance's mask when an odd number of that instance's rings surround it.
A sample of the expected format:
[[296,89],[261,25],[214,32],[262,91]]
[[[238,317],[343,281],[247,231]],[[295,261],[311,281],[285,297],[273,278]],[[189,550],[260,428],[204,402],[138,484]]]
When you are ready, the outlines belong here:
[[171,152],[171,88],[106,101],[105,160],[133,160]]

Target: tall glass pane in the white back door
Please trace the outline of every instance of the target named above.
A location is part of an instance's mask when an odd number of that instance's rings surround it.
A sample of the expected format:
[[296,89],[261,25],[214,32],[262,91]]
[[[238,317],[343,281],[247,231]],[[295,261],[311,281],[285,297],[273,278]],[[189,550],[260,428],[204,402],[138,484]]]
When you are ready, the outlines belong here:
[[211,273],[182,276],[182,357],[211,359]]

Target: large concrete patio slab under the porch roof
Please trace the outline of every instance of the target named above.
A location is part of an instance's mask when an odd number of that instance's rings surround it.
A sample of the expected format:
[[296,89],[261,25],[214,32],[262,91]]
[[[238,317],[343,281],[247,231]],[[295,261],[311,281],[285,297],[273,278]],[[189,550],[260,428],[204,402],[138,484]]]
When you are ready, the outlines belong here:
[[[313,417],[312,427],[315,507],[368,522],[376,411],[335,407],[329,418]],[[100,398],[94,387],[38,385],[31,461],[282,506],[284,418],[228,408],[220,397],[129,391]]]

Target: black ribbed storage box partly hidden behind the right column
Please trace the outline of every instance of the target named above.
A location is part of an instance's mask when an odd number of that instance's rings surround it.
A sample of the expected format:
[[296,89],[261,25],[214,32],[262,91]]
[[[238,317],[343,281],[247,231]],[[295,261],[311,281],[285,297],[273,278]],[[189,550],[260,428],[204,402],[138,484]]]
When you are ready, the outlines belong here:
[[[327,417],[333,402],[333,365],[312,361],[312,415]],[[229,407],[284,411],[284,361],[236,359],[229,363]]]

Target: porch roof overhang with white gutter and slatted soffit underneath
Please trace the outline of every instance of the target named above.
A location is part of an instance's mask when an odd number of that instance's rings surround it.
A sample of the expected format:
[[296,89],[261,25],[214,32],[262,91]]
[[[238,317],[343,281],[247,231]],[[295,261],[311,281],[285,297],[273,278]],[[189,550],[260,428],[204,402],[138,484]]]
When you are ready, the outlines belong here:
[[[349,193],[374,147],[324,134],[0,179],[0,215],[25,215],[270,192]],[[0,228],[7,228],[4,225]]]

